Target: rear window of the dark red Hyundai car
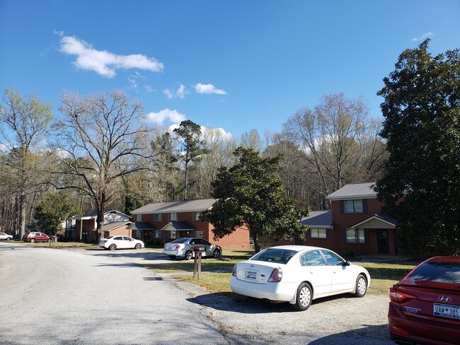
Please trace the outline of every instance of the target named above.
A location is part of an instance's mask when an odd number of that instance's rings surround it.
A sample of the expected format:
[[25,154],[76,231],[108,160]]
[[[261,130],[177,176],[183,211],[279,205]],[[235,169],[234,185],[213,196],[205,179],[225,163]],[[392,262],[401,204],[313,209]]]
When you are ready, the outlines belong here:
[[460,284],[460,262],[425,262],[407,279]]

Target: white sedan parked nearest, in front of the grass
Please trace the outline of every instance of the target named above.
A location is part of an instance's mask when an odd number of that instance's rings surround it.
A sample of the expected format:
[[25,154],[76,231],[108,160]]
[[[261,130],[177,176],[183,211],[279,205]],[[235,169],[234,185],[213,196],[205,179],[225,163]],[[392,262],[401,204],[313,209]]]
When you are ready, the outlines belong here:
[[289,302],[307,310],[311,301],[338,293],[363,297],[369,272],[331,250],[304,245],[270,247],[235,264],[231,291],[244,296]]

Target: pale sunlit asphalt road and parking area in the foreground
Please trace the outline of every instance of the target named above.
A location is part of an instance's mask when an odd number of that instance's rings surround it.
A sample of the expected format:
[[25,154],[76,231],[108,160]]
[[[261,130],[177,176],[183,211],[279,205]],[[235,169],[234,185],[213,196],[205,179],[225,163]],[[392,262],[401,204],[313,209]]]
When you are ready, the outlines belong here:
[[163,260],[0,242],[0,344],[393,344],[386,296],[322,298],[294,312],[139,267]]

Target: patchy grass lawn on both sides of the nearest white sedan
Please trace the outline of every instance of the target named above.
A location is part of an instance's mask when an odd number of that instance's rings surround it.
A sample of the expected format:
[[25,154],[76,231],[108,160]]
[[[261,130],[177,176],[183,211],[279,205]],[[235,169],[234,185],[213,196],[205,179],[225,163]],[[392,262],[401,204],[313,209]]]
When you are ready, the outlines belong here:
[[[172,274],[179,281],[188,281],[203,286],[211,293],[230,293],[231,270],[238,261],[248,259],[253,252],[224,251],[221,259],[202,259],[202,274],[200,279],[193,278],[193,260],[171,260],[166,264],[144,265],[157,273]],[[393,284],[406,276],[416,263],[381,263],[356,262],[369,271],[371,286],[368,293],[386,294]]]

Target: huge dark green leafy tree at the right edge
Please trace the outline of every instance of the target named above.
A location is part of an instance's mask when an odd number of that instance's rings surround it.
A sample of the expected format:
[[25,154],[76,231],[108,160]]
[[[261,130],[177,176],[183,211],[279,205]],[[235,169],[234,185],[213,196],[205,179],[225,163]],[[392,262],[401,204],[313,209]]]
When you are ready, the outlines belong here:
[[432,57],[428,43],[404,51],[377,93],[389,159],[376,190],[410,252],[459,254],[459,49]]

